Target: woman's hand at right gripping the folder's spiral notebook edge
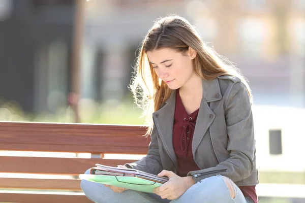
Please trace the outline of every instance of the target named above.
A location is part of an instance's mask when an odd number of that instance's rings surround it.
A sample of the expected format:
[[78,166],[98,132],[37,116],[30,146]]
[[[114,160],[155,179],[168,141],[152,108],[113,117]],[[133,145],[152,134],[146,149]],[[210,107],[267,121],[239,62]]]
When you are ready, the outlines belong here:
[[167,176],[169,178],[162,186],[154,189],[154,193],[158,194],[163,199],[176,199],[195,184],[195,181],[191,176],[180,177],[171,171],[163,170],[158,176]]

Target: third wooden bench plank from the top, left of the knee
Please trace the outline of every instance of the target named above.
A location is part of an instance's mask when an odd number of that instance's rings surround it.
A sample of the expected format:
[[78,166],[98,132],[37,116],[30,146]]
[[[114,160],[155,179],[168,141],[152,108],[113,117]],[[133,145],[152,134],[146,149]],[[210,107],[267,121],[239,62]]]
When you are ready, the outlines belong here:
[[77,179],[0,178],[0,188],[81,191]]

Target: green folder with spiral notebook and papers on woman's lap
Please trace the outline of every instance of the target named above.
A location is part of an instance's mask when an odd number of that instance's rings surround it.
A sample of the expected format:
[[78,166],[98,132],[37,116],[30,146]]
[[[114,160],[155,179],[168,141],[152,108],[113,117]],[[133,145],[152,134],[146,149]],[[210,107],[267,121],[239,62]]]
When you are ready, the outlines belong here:
[[90,174],[79,175],[81,179],[153,193],[154,188],[168,181],[167,177],[159,177],[133,168],[118,168],[107,165],[96,164],[91,168]]

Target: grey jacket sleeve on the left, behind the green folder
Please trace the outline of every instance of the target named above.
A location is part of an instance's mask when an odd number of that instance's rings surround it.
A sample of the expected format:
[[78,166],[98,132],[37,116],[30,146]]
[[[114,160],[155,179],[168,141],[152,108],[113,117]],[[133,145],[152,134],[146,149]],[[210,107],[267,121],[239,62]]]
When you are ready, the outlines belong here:
[[128,168],[135,168],[150,174],[159,174],[162,171],[161,158],[158,147],[158,137],[155,126],[150,134],[151,142],[149,143],[148,153],[141,160],[133,163],[126,163]]

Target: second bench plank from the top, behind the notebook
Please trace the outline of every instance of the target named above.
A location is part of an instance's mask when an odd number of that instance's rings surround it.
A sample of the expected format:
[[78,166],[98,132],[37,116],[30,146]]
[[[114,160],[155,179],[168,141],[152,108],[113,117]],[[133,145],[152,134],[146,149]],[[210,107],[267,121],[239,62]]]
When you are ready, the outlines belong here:
[[101,158],[49,158],[49,157],[14,157],[0,156],[0,173],[33,173],[76,175],[94,167],[96,163],[116,166],[135,160]]

